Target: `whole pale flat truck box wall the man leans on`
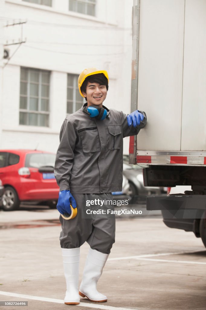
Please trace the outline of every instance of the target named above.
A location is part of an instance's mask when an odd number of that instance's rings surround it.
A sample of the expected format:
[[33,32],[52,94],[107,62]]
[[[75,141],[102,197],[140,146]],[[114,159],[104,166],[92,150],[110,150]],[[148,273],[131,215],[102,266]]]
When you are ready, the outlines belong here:
[[140,1],[137,150],[206,151],[206,1]]

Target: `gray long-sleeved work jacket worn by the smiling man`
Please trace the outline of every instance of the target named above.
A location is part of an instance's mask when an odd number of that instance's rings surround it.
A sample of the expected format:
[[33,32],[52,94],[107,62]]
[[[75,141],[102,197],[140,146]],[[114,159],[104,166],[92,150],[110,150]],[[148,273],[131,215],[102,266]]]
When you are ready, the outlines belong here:
[[123,138],[137,135],[146,119],[134,128],[127,115],[110,109],[104,120],[83,112],[69,115],[60,131],[54,174],[60,191],[109,193],[122,191]]

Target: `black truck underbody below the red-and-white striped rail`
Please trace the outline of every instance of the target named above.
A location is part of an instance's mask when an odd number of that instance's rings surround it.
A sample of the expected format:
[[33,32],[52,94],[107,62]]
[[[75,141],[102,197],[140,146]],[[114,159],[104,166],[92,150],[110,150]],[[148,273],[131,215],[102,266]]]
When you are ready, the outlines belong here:
[[143,176],[145,186],[191,185],[184,194],[147,197],[147,210],[161,210],[165,225],[194,232],[206,247],[206,167],[151,165]]

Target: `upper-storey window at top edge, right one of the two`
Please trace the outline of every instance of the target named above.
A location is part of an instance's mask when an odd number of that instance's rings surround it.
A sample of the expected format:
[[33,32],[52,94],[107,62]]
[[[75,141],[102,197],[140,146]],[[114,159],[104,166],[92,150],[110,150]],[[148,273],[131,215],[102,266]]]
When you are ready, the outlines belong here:
[[96,0],[69,0],[69,11],[95,16]]

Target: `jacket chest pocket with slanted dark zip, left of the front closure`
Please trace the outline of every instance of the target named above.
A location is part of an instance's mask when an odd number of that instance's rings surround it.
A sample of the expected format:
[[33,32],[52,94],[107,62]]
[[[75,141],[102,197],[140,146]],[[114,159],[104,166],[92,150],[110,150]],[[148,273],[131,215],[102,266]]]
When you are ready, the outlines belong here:
[[78,130],[78,133],[82,140],[84,153],[99,152],[101,150],[97,127],[82,128]]

